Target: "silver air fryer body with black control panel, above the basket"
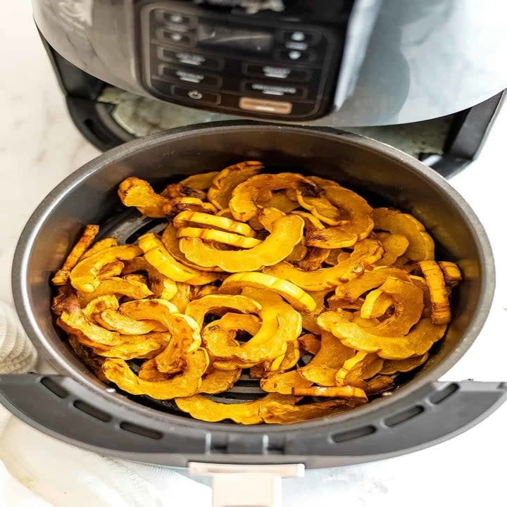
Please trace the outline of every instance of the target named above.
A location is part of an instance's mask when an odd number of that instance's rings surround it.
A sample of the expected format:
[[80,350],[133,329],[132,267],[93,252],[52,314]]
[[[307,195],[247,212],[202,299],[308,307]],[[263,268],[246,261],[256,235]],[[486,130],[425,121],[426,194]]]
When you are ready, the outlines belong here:
[[84,87],[98,78],[182,106],[352,127],[437,118],[499,94],[507,32],[496,5],[35,0],[34,15],[90,77]]

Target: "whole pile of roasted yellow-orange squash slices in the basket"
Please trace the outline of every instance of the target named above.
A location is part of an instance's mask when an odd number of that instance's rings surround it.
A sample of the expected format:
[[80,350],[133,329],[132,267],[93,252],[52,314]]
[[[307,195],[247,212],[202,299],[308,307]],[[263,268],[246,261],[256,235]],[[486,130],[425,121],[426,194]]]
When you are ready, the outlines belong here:
[[[193,418],[296,423],[394,389],[451,320],[458,266],[412,215],[332,180],[247,161],[125,206],[165,218],[135,244],[87,225],[52,282],[57,324],[104,382]],[[219,403],[242,375],[266,395]]]

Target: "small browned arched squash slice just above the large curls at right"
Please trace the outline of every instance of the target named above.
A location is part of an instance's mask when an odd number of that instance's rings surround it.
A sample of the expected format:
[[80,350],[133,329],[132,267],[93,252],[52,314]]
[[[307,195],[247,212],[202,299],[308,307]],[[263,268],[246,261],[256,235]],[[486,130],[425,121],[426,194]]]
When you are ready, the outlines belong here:
[[334,296],[328,299],[331,308],[343,308],[346,303],[355,303],[362,294],[380,287],[388,278],[398,280],[410,280],[410,275],[402,268],[394,266],[382,266],[370,271],[365,271],[360,277],[349,282],[337,285]]

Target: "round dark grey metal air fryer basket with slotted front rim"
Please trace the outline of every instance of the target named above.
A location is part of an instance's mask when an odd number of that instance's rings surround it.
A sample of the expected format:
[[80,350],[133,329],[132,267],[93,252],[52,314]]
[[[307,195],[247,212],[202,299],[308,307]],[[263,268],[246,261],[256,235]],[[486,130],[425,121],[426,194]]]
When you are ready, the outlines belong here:
[[[85,223],[119,239],[160,222],[125,211],[116,196],[129,175],[155,187],[186,175],[261,159],[268,170],[330,177],[375,205],[396,205],[420,218],[438,254],[460,263],[453,323],[430,361],[395,392],[366,406],[296,425],[203,423],[171,403],[134,401],[89,373],[61,339],[49,312],[49,277]],[[437,382],[480,331],[492,300],[494,263],[475,214],[422,163],[354,134],[261,123],[216,123],[173,130],[113,149],[70,175],[37,208],[15,253],[13,290],[25,330],[61,375],[0,376],[0,401],[20,418],[87,449],[148,463],[277,464],[307,467],[372,461],[419,449],[461,432],[506,395],[500,382]],[[239,382],[226,399],[251,399],[258,386]]]

